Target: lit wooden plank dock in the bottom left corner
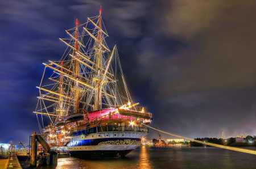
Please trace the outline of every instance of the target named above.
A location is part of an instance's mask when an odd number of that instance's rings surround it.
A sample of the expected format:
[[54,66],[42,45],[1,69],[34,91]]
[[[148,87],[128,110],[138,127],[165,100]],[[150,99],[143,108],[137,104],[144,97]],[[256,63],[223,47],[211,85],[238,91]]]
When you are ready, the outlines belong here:
[[9,154],[2,155],[2,157],[0,157],[0,169],[7,169],[7,168],[22,169],[15,153],[11,153],[10,155]]

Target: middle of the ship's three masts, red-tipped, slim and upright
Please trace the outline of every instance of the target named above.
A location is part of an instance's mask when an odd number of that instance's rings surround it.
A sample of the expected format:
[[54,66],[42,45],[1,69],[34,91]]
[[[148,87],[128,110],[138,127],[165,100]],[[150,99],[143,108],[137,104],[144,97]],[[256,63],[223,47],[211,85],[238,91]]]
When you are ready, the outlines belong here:
[[[79,47],[78,47],[78,24],[79,24],[79,22],[78,22],[78,20],[76,19],[76,45],[75,45],[75,56],[76,57],[79,57],[78,56],[78,52],[79,52]],[[75,78],[77,79],[77,80],[79,80],[79,62],[76,60],[75,61]],[[79,108],[79,83],[75,83],[75,85],[74,86],[76,86],[75,87],[75,91],[76,91],[76,107],[75,107],[75,112],[77,113],[78,112],[78,108]]]

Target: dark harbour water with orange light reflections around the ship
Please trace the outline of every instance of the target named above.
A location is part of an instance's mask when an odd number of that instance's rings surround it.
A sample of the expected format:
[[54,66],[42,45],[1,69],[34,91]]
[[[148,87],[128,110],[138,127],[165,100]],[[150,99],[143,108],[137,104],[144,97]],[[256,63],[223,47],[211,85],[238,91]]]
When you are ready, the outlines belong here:
[[[247,149],[256,150],[256,147]],[[36,168],[256,168],[256,155],[216,147],[141,146],[125,158],[59,158],[57,167]]]

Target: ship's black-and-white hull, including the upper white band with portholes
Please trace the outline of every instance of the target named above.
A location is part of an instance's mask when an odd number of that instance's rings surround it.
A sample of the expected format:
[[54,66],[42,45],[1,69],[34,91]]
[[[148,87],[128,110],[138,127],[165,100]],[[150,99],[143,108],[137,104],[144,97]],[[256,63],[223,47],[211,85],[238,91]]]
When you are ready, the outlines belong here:
[[[127,137],[128,134],[133,137]],[[147,133],[139,132],[97,133],[86,137],[79,135],[73,137],[67,146],[55,147],[55,150],[84,159],[124,157],[136,149],[141,144],[141,137],[146,135]]]

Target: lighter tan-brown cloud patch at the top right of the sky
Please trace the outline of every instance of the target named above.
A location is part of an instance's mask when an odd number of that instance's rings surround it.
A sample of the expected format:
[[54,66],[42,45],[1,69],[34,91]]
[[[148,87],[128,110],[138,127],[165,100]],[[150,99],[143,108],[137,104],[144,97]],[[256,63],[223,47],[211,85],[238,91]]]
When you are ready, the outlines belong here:
[[[254,1],[162,1],[169,6],[164,18],[162,30],[171,34],[186,36],[187,39],[214,27],[233,7],[250,7]],[[230,10],[231,9],[231,10]]]

